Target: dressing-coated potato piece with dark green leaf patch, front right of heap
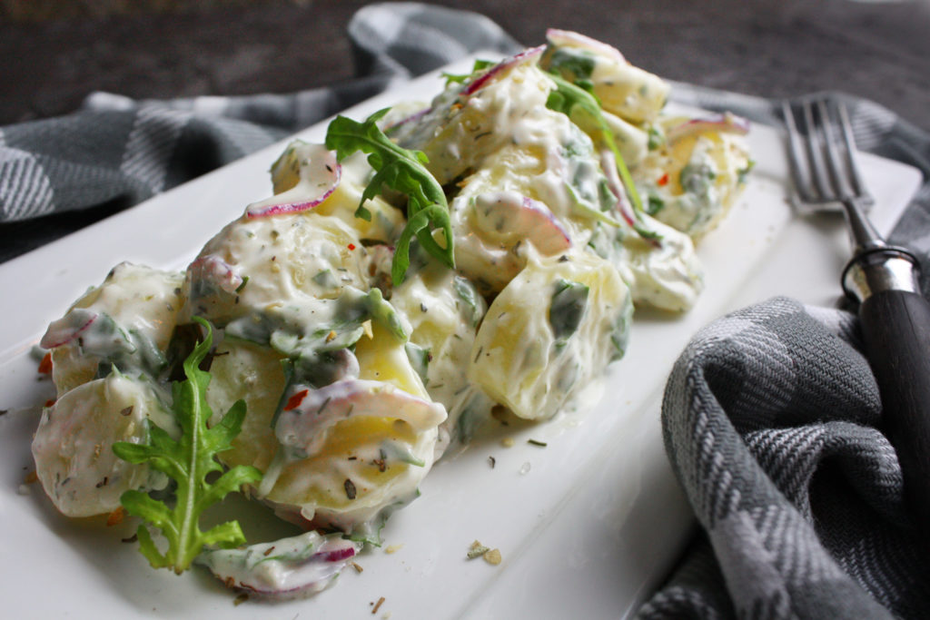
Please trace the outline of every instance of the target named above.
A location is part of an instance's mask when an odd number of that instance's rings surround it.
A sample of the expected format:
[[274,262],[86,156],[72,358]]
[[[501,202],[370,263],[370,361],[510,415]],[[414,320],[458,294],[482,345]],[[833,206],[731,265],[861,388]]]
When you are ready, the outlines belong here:
[[630,290],[604,259],[578,252],[528,263],[487,310],[469,377],[520,417],[555,412],[622,355]]

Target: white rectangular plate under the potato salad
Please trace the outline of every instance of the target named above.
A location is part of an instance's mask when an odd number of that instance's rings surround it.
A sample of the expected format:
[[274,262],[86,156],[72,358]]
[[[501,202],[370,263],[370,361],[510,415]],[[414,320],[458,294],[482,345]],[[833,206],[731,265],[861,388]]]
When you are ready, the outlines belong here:
[[[485,55],[486,57],[487,55]],[[461,73],[466,59],[448,68]],[[362,118],[399,99],[429,100],[435,73],[346,111]],[[299,136],[322,140],[326,123]],[[0,523],[9,617],[623,617],[656,587],[681,551],[692,517],[661,443],[658,412],[671,364],[698,328],[774,295],[830,304],[848,246],[840,218],[792,215],[777,132],[753,127],[757,161],[729,218],[699,256],[707,289],[683,317],[638,313],[626,357],[613,364],[590,411],[476,442],[433,468],[422,496],[397,513],[385,547],[335,587],[283,603],[234,595],[201,569],[153,571],[121,543],[135,525],[69,521],[37,483],[29,444],[37,405],[53,396],[30,350],[46,324],[122,260],[181,269],[245,204],[270,193],[268,168],[284,143],[252,154],[83,231],[0,265]],[[916,170],[863,155],[882,231],[918,187]],[[527,443],[532,438],[546,447]],[[489,456],[496,459],[491,467]],[[473,540],[503,562],[466,560]],[[392,551],[392,552],[389,552]]]

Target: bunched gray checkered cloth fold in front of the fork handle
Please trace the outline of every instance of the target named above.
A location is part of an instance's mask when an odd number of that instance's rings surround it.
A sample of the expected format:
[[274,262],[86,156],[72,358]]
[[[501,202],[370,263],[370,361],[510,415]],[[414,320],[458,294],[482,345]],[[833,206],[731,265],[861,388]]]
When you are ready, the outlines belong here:
[[925,617],[930,559],[842,310],[776,298],[702,329],[662,405],[706,531],[641,618]]

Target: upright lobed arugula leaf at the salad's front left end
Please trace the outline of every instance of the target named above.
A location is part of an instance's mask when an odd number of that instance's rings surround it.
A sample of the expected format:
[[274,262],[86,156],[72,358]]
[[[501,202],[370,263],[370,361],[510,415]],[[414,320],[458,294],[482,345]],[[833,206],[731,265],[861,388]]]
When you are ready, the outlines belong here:
[[212,414],[206,403],[210,374],[198,366],[210,350],[213,331],[205,320],[194,317],[194,321],[207,328],[206,338],[184,361],[187,379],[171,385],[174,396],[171,409],[181,429],[179,440],[171,439],[165,430],[150,423],[148,443],[113,443],[113,452],[123,460],[135,464],[148,462],[178,484],[174,506],[170,508],[164,501],[140,491],[126,491],[120,497],[126,512],[148,521],[167,538],[168,547],[162,553],[155,547],[148,527],[140,524],[138,535],[142,555],[153,568],[170,568],[177,574],[191,566],[205,545],[236,547],[246,542],[238,521],[227,521],[201,532],[200,515],[230,492],[238,491],[243,484],[261,479],[259,469],[237,466],[224,472],[216,481],[206,481],[208,474],[222,471],[216,455],[228,450],[242,429],[246,402],[236,402],[219,424],[211,429],[206,427],[206,421]]

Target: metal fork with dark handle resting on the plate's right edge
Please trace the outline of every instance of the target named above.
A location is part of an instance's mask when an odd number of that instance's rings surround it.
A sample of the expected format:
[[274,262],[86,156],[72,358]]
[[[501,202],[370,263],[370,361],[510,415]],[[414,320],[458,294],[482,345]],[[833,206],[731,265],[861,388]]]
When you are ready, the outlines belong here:
[[842,102],[825,96],[794,105],[783,101],[782,114],[798,198],[844,206],[853,242],[844,292],[859,306],[866,355],[882,396],[883,429],[897,452],[905,500],[930,534],[930,304],[921,295],[917,258],[887,244],[865,215],[871,199]]

